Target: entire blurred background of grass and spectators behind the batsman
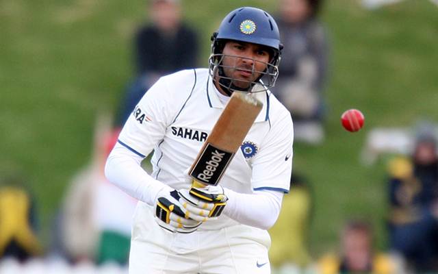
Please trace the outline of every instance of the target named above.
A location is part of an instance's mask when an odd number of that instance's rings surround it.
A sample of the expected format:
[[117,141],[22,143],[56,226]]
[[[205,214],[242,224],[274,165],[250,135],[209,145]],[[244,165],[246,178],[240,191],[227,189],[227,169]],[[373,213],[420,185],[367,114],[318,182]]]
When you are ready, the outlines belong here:
[[136,201],[105,159],[144,92],[206,67],[244,5],[279,24],[272,92],[294,119],[273,273],[438,273],[433,0],[0,0],[0,273],[127,273]]

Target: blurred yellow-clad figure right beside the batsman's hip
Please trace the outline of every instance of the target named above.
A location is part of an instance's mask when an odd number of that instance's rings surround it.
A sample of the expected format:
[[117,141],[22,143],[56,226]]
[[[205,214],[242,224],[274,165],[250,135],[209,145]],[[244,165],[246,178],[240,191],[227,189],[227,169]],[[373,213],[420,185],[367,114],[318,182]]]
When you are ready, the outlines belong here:
[[291,190],[283,198],[279,219],[270,229],[272,266],[294,264],[305,268],[311,262],[307,239],[311,217],[311,193],[305,178],[292,175]]

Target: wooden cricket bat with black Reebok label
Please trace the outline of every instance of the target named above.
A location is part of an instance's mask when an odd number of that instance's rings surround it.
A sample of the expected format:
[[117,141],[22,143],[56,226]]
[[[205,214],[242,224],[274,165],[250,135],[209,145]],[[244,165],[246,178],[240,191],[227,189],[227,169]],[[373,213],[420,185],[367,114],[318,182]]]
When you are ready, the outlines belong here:
[[220,182],[262,107],[250,94],[233,92],[190,168],[195,183],[216,186]]

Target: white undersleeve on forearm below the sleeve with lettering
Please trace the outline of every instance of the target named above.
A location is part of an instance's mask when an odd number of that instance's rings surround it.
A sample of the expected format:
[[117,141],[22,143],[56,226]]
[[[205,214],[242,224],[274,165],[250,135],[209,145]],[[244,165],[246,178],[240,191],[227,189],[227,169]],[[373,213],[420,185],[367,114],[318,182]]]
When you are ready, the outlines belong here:
[[143,158],[119,143],[108,156],[105,164],[107,179],[132,197],[154,206],[158,192],[166,186],[146,173],[140,163]]

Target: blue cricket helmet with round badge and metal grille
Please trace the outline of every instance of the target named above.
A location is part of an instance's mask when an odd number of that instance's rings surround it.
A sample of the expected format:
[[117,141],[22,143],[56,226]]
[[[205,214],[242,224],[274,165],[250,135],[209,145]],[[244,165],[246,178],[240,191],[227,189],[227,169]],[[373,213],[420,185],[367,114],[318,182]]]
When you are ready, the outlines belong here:
[[[268,12],[252,7],[237,8],[225,16],[218,31],[211,36],[211,40],[210,75],[212,77],[217,75],[219,78],[218,84],[228,90],[227,93],[231,94],[233,90],[241,90],[234,86],[233,82],[242,81],[227,77],[223,72],[222,60],[224,55],[222,51],[229,40],[262,45],[270,51],[270,61],[266,63],[266,71],[259,72],[261,76],[257,81],[250,82],[250,88],[245,91],[259,92],[274,86],[279,75],[278,66],[283,45],[280,42],[279,27]],[[256,84],[263,88],[251,90]]]

